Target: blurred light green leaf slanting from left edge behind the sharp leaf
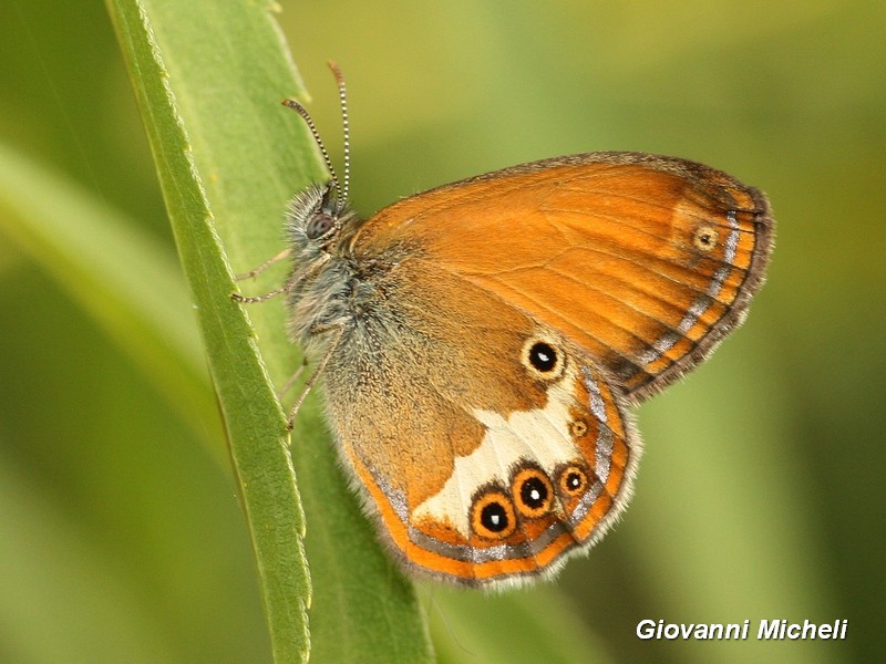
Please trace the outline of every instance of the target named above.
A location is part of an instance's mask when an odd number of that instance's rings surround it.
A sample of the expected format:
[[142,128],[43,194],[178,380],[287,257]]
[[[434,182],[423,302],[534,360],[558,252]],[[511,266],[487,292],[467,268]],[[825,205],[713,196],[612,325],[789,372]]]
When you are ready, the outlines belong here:
[[0,228],[81,303],[227,463],[181,269],[154,238],[0,144]]

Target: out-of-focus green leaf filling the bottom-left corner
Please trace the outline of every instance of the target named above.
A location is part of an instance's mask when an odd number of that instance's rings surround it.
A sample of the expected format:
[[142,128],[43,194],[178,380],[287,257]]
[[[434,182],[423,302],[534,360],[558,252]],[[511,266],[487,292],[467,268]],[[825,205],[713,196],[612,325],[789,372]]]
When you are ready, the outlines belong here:
[[79,529],[64,513],[70,504],[60,508],[3,452],[3,661],[115,664],[121,653],[132,663],[174,661],[175,644],[158,637],[106,542]]

